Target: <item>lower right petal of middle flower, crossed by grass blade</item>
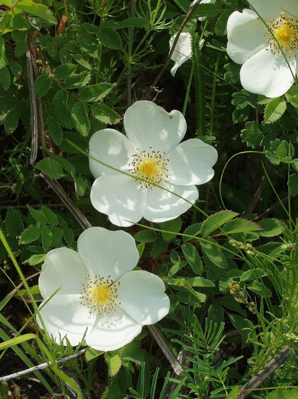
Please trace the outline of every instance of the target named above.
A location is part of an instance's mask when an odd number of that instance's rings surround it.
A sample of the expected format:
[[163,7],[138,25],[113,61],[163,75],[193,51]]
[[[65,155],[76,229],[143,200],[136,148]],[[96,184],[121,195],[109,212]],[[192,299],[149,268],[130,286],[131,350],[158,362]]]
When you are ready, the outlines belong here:
[[[178,194],[179,196],[189,200],[192,204],[199,198],[199,192],[196,186],[176,186],[170,183],[160,184],[168,190]],[[192,205],[168,191],[159,187],[148,189],[147,206],[144,217],[154,222],[162,222],[181,215],[186,212]]]

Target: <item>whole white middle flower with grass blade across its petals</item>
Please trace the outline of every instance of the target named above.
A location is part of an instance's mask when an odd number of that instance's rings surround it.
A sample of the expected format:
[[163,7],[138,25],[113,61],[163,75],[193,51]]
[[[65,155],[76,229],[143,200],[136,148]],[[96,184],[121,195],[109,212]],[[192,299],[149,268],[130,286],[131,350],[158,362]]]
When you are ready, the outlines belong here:
[[199,197],[195,185],[212,179],[216,150],[199,139],[181,144],[187,125],[179,111],[166,112],[151,101],[137,101],[124,115],[127,134],[114,129],[96,132],[89,154],[132,177],[142,178],[182,198],[116,172],[89,158],[96,178],[91,202],[112,223],[131,226],[142,217],[153,222],[174,219]]

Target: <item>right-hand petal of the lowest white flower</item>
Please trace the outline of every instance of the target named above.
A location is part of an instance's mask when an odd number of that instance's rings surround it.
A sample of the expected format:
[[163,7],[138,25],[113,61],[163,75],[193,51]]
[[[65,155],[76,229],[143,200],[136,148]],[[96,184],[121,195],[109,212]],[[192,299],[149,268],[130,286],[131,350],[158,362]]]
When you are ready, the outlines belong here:
[[169,313],[165,284],[156,275],[133,270],[119,279],[120,307],[140,324],[154,324]]

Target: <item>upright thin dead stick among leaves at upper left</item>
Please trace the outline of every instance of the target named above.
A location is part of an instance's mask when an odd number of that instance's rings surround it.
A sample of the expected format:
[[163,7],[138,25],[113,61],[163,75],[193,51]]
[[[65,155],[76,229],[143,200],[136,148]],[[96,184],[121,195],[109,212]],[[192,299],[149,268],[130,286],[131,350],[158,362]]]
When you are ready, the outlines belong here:
[[31,156],[30,164],[33,166],[37,158],[38,150],[38,122],[37,122],[37,108],[36,108],[36,98],[34,91],[34,75],[31,57],[32,41],[34,43],[34,34],[28,34],[28,48],[26,50],[26,60],[27,60],[27,75],[28,75],[28,88],[29,88],[29,98],[30,98],[30,113],[31,113]]

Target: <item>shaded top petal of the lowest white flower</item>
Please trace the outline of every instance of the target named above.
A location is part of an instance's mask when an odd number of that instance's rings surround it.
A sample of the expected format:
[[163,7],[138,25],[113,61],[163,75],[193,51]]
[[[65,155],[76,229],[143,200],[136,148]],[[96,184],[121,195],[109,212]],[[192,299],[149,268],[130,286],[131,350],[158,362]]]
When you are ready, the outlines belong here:
[[122,230],[88,228],[78,239],[78,251],[93,277],[110,276],[114,281],[132,270],[139,261],[134,239]]

